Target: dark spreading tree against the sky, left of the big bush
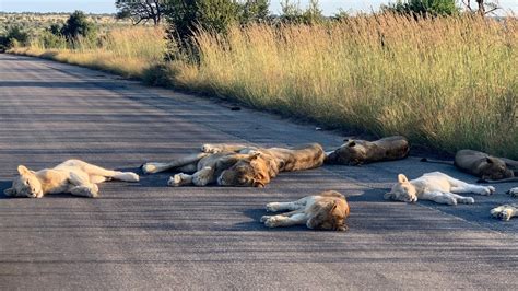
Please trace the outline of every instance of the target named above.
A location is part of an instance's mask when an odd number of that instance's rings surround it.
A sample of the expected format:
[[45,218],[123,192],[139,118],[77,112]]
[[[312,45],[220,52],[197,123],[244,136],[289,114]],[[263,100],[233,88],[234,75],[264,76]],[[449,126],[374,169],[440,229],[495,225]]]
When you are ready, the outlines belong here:
[[118,19],[130,19],[136,25],[150,20],[158,25],[166,13],[164,0],[117,0],[115,7]]

